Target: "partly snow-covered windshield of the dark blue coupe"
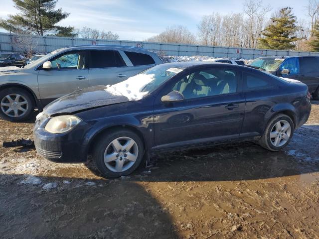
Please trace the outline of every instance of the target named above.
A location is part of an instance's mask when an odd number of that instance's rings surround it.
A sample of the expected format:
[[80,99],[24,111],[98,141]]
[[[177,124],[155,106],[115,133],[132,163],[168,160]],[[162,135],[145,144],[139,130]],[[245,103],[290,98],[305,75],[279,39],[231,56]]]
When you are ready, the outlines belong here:
[[129,100],[141,100],[181,71],[182,68],[171,65],[157,65],[126,81],[109,86],[106,91],[113,95],[125,96]]

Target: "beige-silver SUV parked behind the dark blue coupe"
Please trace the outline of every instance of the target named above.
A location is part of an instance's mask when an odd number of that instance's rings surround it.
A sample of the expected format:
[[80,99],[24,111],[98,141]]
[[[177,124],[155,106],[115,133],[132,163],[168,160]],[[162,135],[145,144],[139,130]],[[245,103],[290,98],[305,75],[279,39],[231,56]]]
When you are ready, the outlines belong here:
[[0,118],[28,119],[34,108],[73,91],[113,85],[161,64],[156,52],[127,46],[74,46],[55,50],[24,68],[0,69]]

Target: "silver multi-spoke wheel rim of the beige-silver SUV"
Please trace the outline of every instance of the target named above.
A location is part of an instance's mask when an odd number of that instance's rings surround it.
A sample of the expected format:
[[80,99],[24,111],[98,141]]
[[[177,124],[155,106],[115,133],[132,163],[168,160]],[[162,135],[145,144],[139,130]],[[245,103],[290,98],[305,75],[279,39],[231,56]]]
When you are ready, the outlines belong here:
[[2,98],[1,111],[9,117],[23,116],[29,107],[27,100],[19,94],[9,94]]

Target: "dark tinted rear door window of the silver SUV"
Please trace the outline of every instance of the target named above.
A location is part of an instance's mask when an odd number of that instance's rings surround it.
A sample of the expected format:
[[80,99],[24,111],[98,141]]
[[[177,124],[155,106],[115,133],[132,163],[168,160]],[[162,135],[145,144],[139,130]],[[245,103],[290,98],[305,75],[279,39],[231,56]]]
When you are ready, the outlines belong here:
[[90,52],[90,68],[108,68],[125,66],[125,63],[118,51],[92,50]]

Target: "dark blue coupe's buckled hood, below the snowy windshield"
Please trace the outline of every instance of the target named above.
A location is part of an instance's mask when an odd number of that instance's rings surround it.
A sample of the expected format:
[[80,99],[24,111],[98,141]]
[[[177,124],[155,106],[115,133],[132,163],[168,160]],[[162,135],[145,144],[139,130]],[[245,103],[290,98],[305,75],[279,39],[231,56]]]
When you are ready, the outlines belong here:
[[107,91],[107,88],[108,86],[93,86],[62,96],[47,105],[43,113],[49,117],[65,115],[130,101],[126,96]]

